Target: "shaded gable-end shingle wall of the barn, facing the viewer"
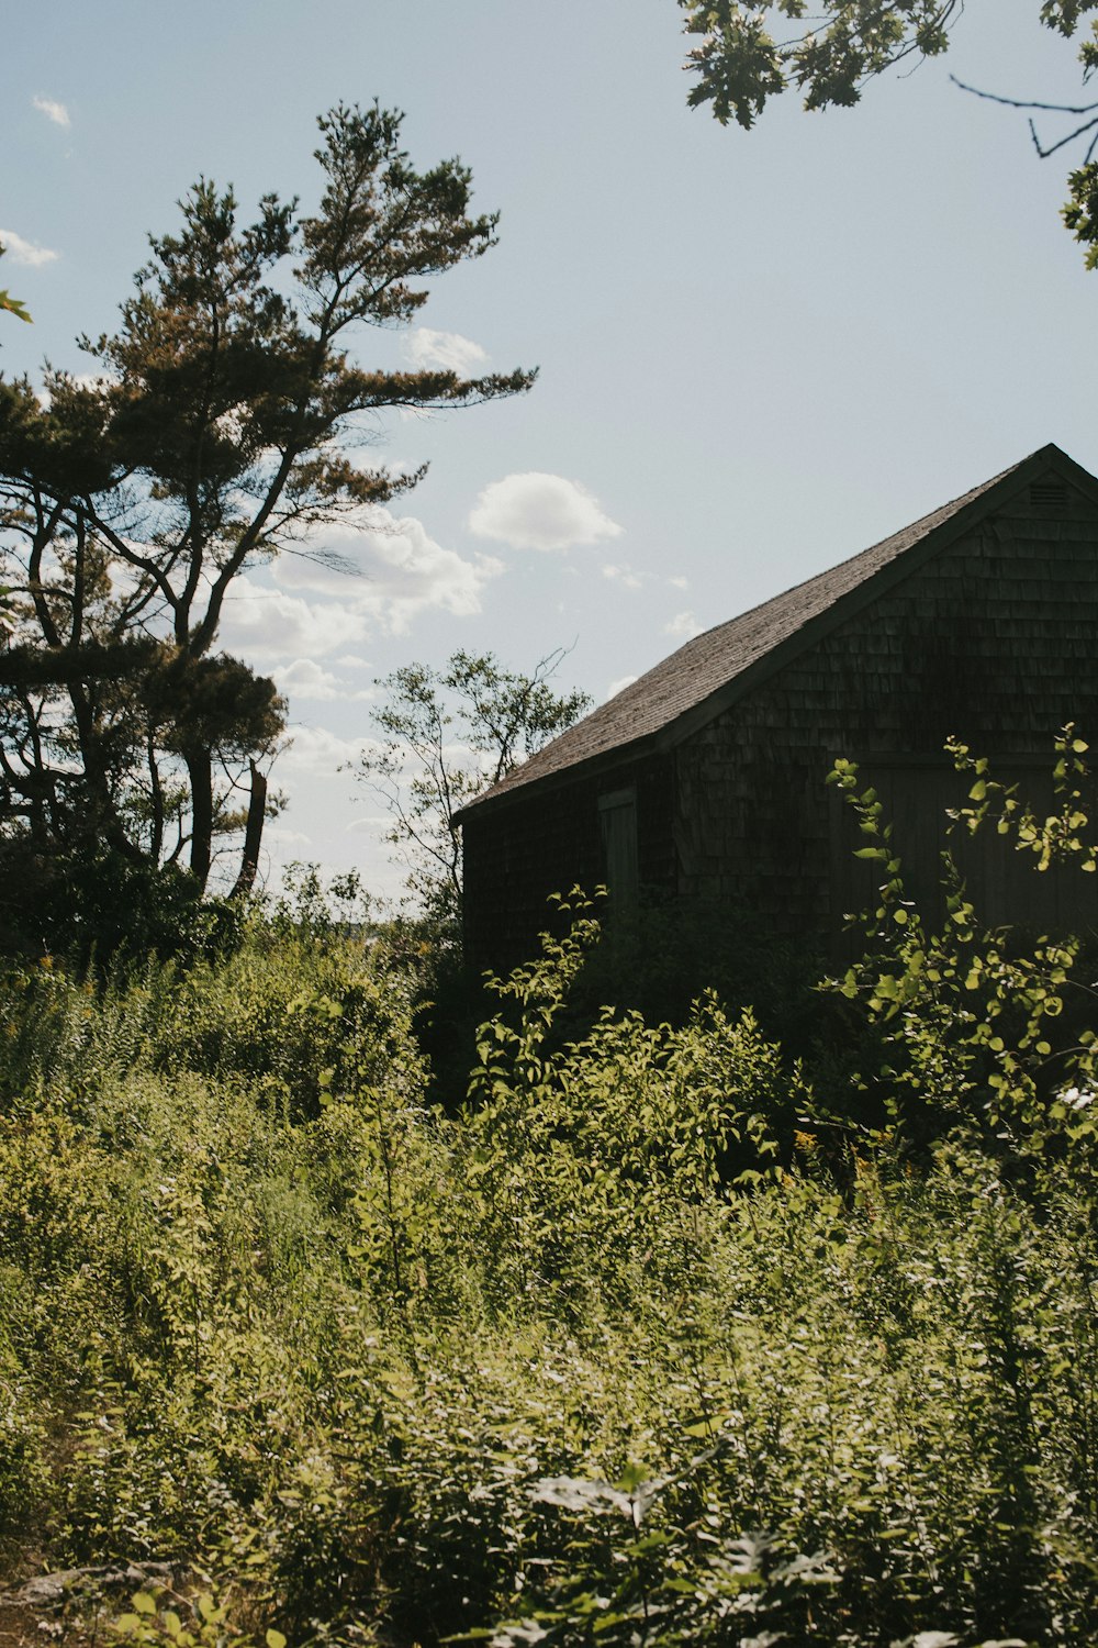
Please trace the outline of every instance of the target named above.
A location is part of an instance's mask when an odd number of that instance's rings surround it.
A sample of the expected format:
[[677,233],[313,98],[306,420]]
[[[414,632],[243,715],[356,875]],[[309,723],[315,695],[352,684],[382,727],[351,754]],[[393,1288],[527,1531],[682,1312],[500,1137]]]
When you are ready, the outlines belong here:
[[[956,735],[999,763],[1050,766],[1067,720],[1098,743],[1098,513],[1073,491],[1054,519],[1026,496],[988,517],[680,747],[678,890],[831,928],[856,885],[833,855],[859,845],[825,788],[835,756],[859,760],[868,783],[896,758],[943,773]],[[907,822],[925,880],[925,817]],[[904,855],[904,819],[896,832]],[[1011,918],[1011,877],[989,885],[989,918]]]

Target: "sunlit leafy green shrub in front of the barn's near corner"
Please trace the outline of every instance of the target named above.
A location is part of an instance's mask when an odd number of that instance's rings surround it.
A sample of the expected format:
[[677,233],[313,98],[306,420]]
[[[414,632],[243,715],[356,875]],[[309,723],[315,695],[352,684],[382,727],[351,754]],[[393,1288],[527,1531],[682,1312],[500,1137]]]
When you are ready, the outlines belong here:
[[733,1023],[713,995],[686,1023],[649,1025],[604,1009],[578,1043],[551,1050],[571,981],[598,939],[581,906],[565,939],[495,981],[500,1014],[477,1033],[461,1129],[477,1244],[495,1287],[568,1289],[612,1277],[644,1256],[654,1274],[690,1272],[729,1167],[741,1183],[772,1172],[777,1134],[808,1099],[751,1012]]

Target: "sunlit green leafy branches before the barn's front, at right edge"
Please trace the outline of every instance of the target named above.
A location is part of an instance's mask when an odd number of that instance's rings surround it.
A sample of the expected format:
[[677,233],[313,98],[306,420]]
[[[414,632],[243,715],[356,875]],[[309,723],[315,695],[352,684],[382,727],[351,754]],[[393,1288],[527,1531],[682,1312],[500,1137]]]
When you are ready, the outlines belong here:
[[[1057,809],[1045,816],[1026,804],[1017,786],[999,783],[986,756],[973,756],[956,740],[948,750],[971,780],[970,804],[956,809],[955,826],[978,837],[994,824],[1032,860],[1035,873],[1054,864],[1093,873],[1098,847],[1088,827],[1088,745],[1073,727],[1055,740]],[[892,826],[876,794],[859,789],[856,766],[836,763],[830,781],[846,794],[863,829],[891,842]],[[884,859],[887,852],[882,845],[859,855]],[[1090,997],[1080,977],[1080,941],[1039,936],[1026,944],[1007,929],[984,931],[948,855],[945,921],[937,928],[905,903],[899,859],[889,859],[887,873],[881,903],[864,920],[868,953],[838,989],[849,1000],[861,997],[886,1027],[896,1050],[889,1079],[897,1117],[910,1114],[902,1094],[914,1094],[935,1112],[938,1127],[993,1149],[1007,1144],[1031,1162],[1037,1180],[1050,1154],[1077,1159],[1077,1152],[1088,1152],[1098,1137],[1088,1106],[1055,1098],[1057,1091],[1090,1093],[1098,1084],[1095,1038],[1080,1023]],[[1060,1018],[1073,1030],[1058,1033]]]

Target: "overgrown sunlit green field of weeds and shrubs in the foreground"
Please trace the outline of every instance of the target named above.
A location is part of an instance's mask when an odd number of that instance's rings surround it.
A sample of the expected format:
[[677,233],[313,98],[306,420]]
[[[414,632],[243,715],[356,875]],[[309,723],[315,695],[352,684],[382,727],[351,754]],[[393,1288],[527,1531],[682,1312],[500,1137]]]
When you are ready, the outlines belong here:
[[384,943],[7,976],[8,1595],[168,1564],[100,1643],[1098,1638],[1088,1094],[1037,1172],[999,1112],[825,1126],[714,1000],[553,1045],[589,936],[446,1112]]

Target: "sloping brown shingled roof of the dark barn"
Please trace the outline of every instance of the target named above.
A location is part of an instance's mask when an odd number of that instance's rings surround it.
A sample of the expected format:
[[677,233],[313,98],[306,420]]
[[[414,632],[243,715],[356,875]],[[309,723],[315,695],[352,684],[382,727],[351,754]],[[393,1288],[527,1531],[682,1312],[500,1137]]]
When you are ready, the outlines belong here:
[[[1098,493],[1095,478],[1067,453],[1054,445],[1042,447],[881,544],[686,641],[464,806],[458,822],[530,784],[560,783],[578,768],[616,765],[642,753],[645,745],[668,748],[678,743],[864,602],[874,600],[896,577],[905,577],[915,564],[1049,470]],[[904,565],[897,567],[900,560]]]

